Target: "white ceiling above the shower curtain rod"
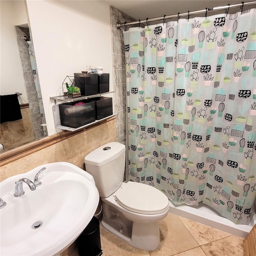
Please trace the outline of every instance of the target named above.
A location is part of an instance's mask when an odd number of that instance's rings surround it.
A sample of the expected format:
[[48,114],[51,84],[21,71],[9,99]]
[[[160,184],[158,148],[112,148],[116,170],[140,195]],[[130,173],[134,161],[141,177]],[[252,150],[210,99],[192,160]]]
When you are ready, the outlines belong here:
[[[240,4],[242,0],[105,0],[105,2],[132,16],[136,20],[146,20],[146,18],[161,17],[164,14],[168,16],[178,14],[178,12],[184,13],[188,10],[192,12],[205,8],[227,6],[228,4]],[[253,1],[244,0],[244,2]],[[244,10],[255,7],[256,5],[250,7],[244,6]],[[229,12],[237,12],[238,10],[240,8],[233,8]],[[225,10],[221,12],[224,13]],[[212,12],[211,15],[213,14],[217,14],[217,12]]]

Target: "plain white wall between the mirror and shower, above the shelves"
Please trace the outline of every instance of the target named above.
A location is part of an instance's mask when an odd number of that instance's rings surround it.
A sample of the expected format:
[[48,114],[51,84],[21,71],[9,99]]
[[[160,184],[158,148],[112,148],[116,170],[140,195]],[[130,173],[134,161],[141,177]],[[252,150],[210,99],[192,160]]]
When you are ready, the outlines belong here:
[[94,65],[110,73],[112,81],[110,7],[102,1],[26,2],[48,135],[51,135],[56,129],[50,97],[62,95],[66,76]]

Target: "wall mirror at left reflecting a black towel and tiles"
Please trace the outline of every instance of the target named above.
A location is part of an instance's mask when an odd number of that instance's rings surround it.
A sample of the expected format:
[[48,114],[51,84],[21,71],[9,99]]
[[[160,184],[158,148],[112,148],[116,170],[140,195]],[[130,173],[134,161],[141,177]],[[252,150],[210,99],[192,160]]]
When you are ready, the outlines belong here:
[[47,130],[26,1],[0,1],[0,12],[0,94],[17,93],[22,113],[22,119],[0,124],[2,153],[40,140]]

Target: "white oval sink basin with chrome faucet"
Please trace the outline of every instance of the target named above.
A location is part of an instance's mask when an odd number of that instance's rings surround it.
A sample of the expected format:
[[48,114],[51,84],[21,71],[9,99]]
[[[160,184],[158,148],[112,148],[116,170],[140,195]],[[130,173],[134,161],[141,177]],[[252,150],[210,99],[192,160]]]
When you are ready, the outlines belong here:
[[[15,181],[34,180],[42,184],[14,197]],[[2,256],[56,255],[64,251],[86,228],[98,206],[99,193],[93,177],[67,162],[44,164],[0,182],[0,254]],[[39,228],[32,228],[35,222]],[[37,226],[37,225],[36,225]]]

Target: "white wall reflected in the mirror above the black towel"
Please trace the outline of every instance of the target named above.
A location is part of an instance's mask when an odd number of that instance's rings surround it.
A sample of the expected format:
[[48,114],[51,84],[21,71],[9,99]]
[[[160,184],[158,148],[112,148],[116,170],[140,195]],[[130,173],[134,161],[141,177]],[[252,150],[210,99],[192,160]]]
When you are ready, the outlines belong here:
[[20,103],[28,102],[22,76],[14,26],[28,23],[24,1],[0,1],[1,95],[21,92]]

